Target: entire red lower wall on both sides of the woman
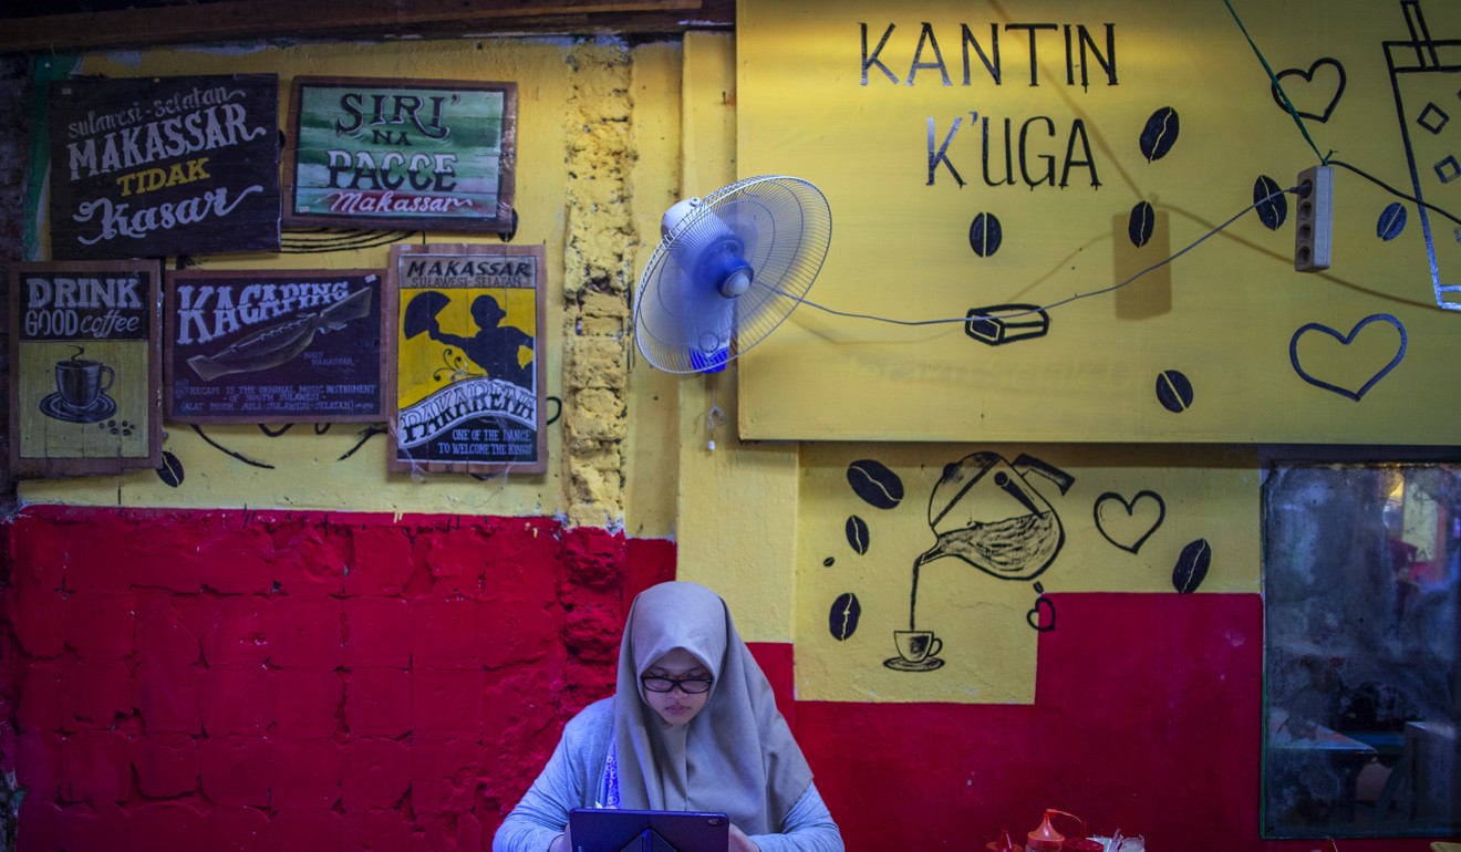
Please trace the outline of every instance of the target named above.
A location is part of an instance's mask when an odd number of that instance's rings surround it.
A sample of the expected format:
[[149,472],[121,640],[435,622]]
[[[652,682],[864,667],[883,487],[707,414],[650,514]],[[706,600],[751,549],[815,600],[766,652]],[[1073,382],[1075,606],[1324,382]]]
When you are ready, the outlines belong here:
[[[7,532],[22,851],[488,849],[675,558],[548,519],[31,507]],[[1034,706],[795,701],[790,646],[752,646],[852,852],[982,849],[1045,807],[1154,852],[1319,846],[1258,840],[1256,595],[1053,598]]]

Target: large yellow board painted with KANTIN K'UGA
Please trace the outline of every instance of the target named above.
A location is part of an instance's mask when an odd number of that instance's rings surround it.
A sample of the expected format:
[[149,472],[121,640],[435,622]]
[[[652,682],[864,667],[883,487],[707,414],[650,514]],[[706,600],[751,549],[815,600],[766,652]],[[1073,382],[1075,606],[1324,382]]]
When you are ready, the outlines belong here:
[[[1220,1],[745,0],[738,171],[793,174],[825,191],[833,240],[811,301],[899,320],[1055,305],[1118,286],[1245,210],[1259,178],[1293,187],[1331,152],[1413,193],[1384,44],[1410,39],[1403,4],[1233,7],[1275,73],[1292,72],[1281,79],[1312,115],[1318,152]],[[1461,6],[1417,9],[1438,44],[1397,48],[1397,61],[1439,57],[1454,72]],[[991,63],[998,37],[998,83],[969,48],[966,85],[961,26]],[[1081,32],[1094,48],[1083,53]],[[1455,75],[1411,69],[1397,80],[1427,200],[1452,216],[1429,213],[1438,281],[1457,284]],[[1144,148],[1148,126],[1164,127],[1170,145]],[[1012,186],[1002,183],[1011,149]],[[1454,383],[1461,314],[1438,307],[1423,210],[1353,171],[1337,168],[1335,181],[1334,262],[1322,273],[1293,269],[1290,194],[1277,229],[1249,212],[1170,266],[1049,307],[1049,333],[1037,339],[985,345],[961,323],[906,327],[802,305],[744,360],[742,430],[802,440],[1451,443],[1461,403],[1441,390]],[[1397,202],[1408,222],[1386,241],[1378,231]],[[1140,203],[1151,205],[1154,227],[1138,248],[1129,224]],[[1002,243],[985,256],[970,244],[980,215],[1002,224]],[[1458,304],[1455,294],[1445,301]],[[1376,316],[1401,324],[1404,341],[1388,320],[1360,327]],[[1303,332],[1309,323],[1331,333]],[[1359,402],[1302,376],[1359,392],[1391,358]],[[1194,389],[1176,412],[1157,396],[1169,370]]]

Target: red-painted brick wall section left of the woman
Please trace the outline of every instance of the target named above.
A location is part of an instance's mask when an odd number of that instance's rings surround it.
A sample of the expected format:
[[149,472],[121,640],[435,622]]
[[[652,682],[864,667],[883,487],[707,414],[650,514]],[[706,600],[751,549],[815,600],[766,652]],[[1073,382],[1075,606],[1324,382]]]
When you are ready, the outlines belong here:
[[485,849],[674,547],[546,519],[28,509],[22,851]]

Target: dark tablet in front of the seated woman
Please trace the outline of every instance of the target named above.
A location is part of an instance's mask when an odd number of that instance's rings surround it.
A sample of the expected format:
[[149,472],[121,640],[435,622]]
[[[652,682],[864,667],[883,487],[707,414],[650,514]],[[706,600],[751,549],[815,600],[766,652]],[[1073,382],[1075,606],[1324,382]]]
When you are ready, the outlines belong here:
[[685,811],[568,811],[571,852],[726,852],[730,818]]

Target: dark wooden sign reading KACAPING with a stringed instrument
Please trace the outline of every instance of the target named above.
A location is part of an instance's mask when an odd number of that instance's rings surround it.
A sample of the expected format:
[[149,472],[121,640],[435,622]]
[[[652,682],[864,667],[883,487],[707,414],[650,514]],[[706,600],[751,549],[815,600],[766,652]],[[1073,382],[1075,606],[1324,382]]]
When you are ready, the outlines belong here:
[[168,417],[383,421],[375,269],[169,272]]

